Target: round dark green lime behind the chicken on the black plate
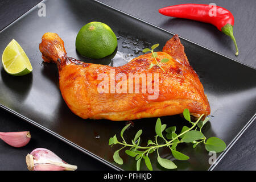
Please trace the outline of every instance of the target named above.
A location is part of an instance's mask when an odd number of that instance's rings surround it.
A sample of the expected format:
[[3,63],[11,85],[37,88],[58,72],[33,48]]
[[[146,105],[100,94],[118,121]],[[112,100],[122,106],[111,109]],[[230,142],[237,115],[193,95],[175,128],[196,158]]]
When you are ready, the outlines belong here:
[[117,36],[105,23],[85,24],[76,37],[76,49],[84,57],[101,59],[111,55],[116,47]]

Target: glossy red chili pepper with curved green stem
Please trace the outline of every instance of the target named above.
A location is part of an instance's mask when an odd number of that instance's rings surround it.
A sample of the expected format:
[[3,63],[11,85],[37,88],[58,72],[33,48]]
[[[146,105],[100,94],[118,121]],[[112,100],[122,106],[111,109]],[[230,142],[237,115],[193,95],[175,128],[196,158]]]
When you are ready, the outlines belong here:
[[159,9],[159,13],[213,24],[218,30],[232,38],[237,50],[236,56],[238,56],[238,47],[233,35],[234,16],[229,10],[214,5],[183,4],[164,7]]

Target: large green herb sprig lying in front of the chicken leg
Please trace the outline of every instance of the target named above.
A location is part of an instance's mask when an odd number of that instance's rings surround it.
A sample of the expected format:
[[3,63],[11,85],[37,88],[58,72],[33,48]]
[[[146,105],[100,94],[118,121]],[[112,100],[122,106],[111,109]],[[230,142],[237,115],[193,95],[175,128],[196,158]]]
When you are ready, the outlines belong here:
[[[154,45],[151,48],[155,49],[159,45]],[[180,143],[192,143],[193,148],[197,146],[197,144],[204,143],[205,149],[207,151],[214,151],[214,152],[222,152],[226,148],[226,144],[224,141],[217,137],[210,137],[206,138],[204,134],[201,132],[201,129],[209,121],[209,118],[205,118],[204,121],[201,121],[201,118],[203,115],[200,116],[199,119],[197,119],[196,122],[191,122],[191,117],[188,109],[185,109],[183,112],[184,118],[191,123],[191,127],[183,126],[180,133],[177,133],[176,126],[167,127],[166,124],[162,124],[160,118],[157,119],[156,125],[155,125],[155,139],[154,140],[148,140],[147,146],[143,147],[140,146],[141,142],[141,135],[142,130],[139,130],[135,136],[134,139],[131,140],[131,144],[126,143],[123,133],[127,130],[127,128],[130,126],[126,125],[121,130],[120,136],[122,138],[122,142],[119,142],[117,139],[117,135],[114,135],[114,137],[111,137],[109,139],[109,145],[113,146],[114,144],[119,144],[122,146],[119,150],[114,152],[113,159],[114,162],[118,164],[123,164],[122,158],[119,156],[119,151],[121,151],[123,148],[129,147],[125,150],[125,153],[135,160],[137,160],[136,168],[139,171],[141,169],[141,160],[144,160],[144,163],[146,164],[146,167],[149,170],[152,170],[152,164],[150,160],[150,154],[152,152],[157,152],[157,161],[160,164],[160,166],[167,168],[167,169],[175,169],[177,166],[174,162],[168,159],[161,158],[159,154],[159,149],[162,147],[168,147],[171,150],[172,156],[174,156],[177,160],[188,160],[189,156],[179,152],[176,150],[176,147]],[[199,130],[198,130],[199,129]],[[166,134],[164,133],[166,132]],[[164,142],[164,143],[163,143]]]

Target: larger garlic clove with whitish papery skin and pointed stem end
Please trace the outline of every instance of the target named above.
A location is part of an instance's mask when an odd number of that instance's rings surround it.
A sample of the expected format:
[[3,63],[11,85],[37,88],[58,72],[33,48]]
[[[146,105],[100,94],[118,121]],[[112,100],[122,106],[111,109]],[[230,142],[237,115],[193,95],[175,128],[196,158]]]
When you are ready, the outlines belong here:
[[74,171],[77,166],[68,164],[46,148],[36,148],[26,156],[30,171]]

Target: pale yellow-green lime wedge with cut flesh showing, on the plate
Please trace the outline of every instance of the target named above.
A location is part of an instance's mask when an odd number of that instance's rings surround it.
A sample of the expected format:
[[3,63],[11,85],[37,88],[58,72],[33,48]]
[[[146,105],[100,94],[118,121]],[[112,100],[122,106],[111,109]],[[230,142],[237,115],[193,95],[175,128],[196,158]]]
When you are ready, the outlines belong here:
[[14,76],[23,76],[32,72],[32,66],[26,53],[16,40],[11,40],[3,51],[3,68],[7,73]]

